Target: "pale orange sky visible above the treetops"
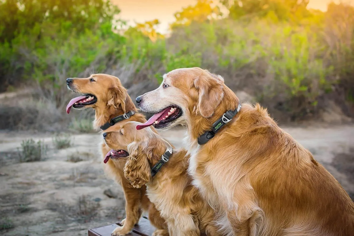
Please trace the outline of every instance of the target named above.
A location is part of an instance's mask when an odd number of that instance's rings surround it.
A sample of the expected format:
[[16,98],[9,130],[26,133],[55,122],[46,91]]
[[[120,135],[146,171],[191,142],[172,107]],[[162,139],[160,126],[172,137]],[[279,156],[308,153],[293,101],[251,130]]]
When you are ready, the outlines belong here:
[[[128,21],[129,25],[159,19],[161,24],[158,30],[166,33],[169,24],[175,19],[173,14],[182,7],[194,5],[196,0],[112,0],[112,2],[120,8],[120,18]],[[310,0],[308,8],[326,11],[329,2],[331,0]]]

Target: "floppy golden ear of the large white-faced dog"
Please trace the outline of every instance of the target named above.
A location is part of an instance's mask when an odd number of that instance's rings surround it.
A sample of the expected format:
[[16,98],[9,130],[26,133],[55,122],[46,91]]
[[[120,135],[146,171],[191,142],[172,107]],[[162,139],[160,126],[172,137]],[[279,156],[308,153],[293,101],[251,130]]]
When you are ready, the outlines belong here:
[[199,90],[197,110],[203,117],[210,117],[224,97],[224,79],[220,75],[204,72],[194,80],[194,86]]

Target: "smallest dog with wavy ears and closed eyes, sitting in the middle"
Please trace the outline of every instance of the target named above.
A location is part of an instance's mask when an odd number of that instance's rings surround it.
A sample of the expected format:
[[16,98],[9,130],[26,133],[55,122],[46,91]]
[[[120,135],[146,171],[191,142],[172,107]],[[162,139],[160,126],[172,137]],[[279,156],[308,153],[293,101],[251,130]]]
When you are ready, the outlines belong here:
[[137,131],[131,121],[119,131],[104,133],[115,153],[128,153],[124,174],[133,186],[147,186],[147,195],[166,219],[171,236],[221,235],[213,223],[214,210],[202,199],[187,173],[189,155],[173,149],[147,128]]

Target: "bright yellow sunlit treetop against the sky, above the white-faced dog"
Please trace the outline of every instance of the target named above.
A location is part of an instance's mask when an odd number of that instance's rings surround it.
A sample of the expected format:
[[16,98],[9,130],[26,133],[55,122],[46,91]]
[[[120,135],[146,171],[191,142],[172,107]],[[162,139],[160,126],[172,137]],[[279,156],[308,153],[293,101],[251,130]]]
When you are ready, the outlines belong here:
[[213,7],[212,4],[212,0],[198,0],[194,6],[183,7],[182,11],[175,13],[176,22],[171,27],[189,25],[192,22],[201,23],[221,16],[220,8]]

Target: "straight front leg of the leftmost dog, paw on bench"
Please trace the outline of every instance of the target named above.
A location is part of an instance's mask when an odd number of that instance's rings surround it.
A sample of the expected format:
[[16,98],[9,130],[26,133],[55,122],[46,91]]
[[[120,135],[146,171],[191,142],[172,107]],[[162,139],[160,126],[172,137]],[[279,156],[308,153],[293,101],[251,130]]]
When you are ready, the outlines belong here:
[[122,236],[128,234],[138,223],[142,209],[141,205],[141,189],[127,188],[123,185],[125,196],[125,213],[126,218],[122,220],[123,225],[118,226],[112,232],[112,236]]

